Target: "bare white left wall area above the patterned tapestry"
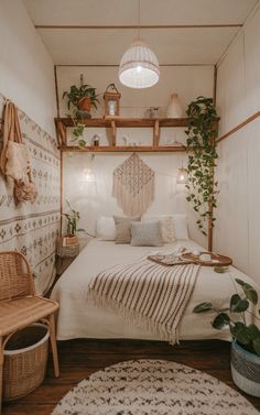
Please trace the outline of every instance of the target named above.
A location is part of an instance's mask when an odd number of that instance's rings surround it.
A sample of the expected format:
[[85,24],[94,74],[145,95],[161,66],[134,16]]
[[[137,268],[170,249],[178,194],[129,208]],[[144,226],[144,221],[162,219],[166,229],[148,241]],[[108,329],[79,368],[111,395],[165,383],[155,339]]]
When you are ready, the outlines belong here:
[[22,0],[0,1],[0,92],[54,135],[53,62]]

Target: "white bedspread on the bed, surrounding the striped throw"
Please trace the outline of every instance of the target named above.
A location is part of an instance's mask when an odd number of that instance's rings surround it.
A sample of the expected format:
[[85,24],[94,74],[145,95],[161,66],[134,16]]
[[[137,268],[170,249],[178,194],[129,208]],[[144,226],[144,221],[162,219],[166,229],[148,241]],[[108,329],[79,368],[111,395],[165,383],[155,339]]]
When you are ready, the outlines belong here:
[[[158,247],[131,247],[91,240],[56,283],[52,298],[59,303],[57,339],[73,338],[128,338],[160,340],[160,336],[141,327],[129,325],[123,317],[98,308],[87,299],[88,283],[100,271],[117,264],[131,263],[154,251],[175,251],[180,247],[202,249],[195,242],[176,241]],[[229,339],[228,330],[215,330],[210,314],[196,315],[193,308],[204,301],[226,307],[235,292],[232,279],[239,277],[256,286],[253,281],[230,266],[230,273],[218,274],[210,266],[201,267],[195,290],[180,324],[180,340]]]

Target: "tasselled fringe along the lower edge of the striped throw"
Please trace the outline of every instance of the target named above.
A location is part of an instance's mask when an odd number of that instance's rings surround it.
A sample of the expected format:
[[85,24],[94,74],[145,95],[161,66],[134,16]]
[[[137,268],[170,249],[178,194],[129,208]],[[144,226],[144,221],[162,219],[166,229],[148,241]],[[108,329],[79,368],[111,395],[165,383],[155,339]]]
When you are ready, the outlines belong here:
[[109,309],[111,312],[120,314],[120,316],[122,316],[130,325],[138,325],[143,329],[159,335],[162,340],[169,341],[171,346],[178,343],[177,328],[174,328],[170,331],[166,329],[166,327],[163,327],[159,323],[151,320],[149,317],[140,316],[140,314],[136,310],[130,310],[118,302],[115,302],[110,298],[100,297],[91,288],[88,288],[87,299],[90,299],[95,306],[101,309]]

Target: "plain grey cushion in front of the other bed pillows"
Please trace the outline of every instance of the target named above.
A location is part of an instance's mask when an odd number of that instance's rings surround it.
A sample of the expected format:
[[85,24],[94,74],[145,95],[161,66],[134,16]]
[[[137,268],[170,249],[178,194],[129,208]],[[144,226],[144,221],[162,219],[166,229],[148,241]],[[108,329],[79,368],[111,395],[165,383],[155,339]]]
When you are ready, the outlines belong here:
[[162,231],[160,221],[131,223],[131,245],[162,247]]

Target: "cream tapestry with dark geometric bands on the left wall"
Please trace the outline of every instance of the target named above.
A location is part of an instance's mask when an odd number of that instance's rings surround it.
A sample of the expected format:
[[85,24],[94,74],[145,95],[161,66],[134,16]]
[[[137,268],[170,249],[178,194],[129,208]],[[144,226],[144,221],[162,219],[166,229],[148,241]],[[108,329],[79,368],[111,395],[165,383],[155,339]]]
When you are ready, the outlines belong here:
[[[0,95],[0,113],[3,106],[4,98]],[[55,275],[55,245],[59,229],[59,152],[54,138],[22,110],[18,113],[39,195],[33,204],[26,201],[15,206],[12,186],[0,175],[0,251],[22,252],[32,267],[37,293],[44,293]]]

